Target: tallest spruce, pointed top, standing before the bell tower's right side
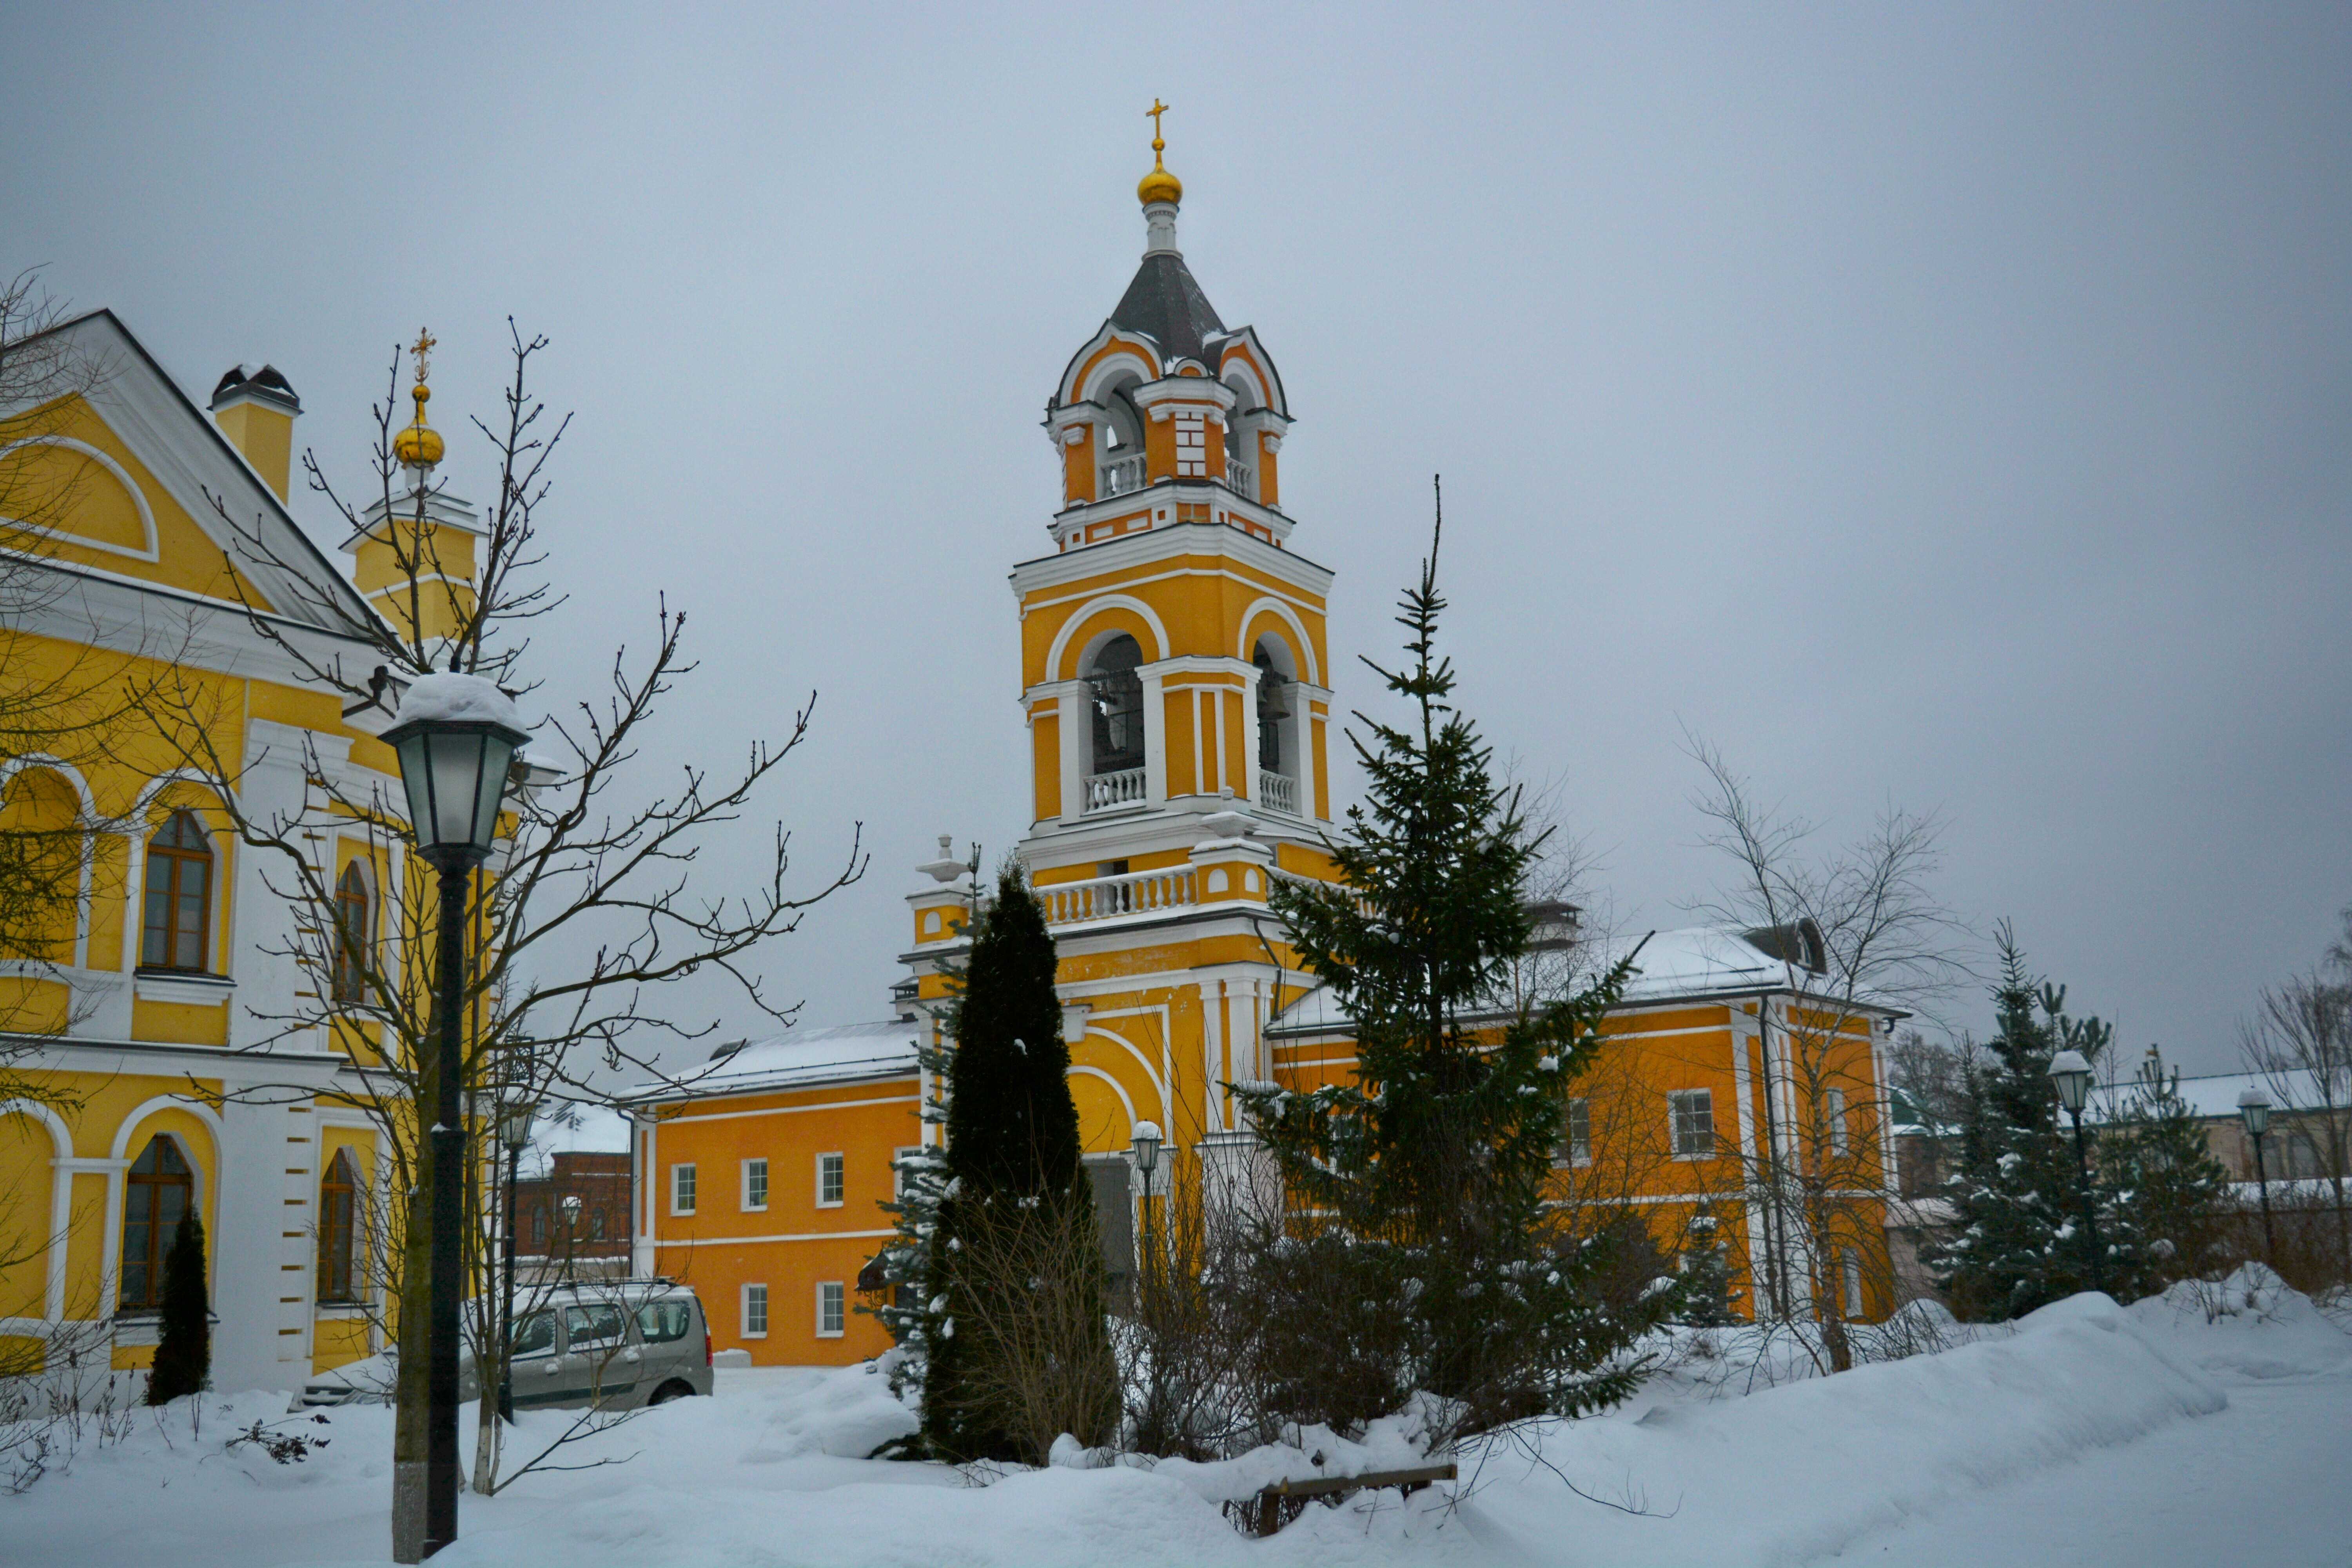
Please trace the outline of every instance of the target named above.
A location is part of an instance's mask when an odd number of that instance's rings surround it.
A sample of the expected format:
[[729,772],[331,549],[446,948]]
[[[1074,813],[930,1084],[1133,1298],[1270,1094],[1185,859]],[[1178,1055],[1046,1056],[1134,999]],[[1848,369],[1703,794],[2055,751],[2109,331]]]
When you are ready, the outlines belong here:
[[1432,1446],[1623,1399],[1637,1373],[1621,1352],[1682,1305],[1663,1284],[1611,1307],[1613,1241],[1566,1244],[1545,1208],[1566,1086],[1632,959],[1573,997],[1512,1004],[1545,835],[1451,703],[1442,536],[1439,512],[1399,604],[1406,663],[1371,665],[1406,717],[1357,712],[1371,738],[1350,731],[1367,799],[1329,844],[1343,884],[1272,891],[1291,947],[1355,1023],[1357,1077],[1232,1086],[1294,1204],[1256,1260],[1279,1413],[1359,1427],[1428,1389],[1451,1401]]

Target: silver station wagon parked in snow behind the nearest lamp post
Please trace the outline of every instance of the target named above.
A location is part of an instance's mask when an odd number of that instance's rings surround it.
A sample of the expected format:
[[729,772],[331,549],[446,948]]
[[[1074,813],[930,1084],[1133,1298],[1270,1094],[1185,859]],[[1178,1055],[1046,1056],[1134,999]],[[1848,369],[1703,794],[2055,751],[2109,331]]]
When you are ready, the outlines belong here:
[[[522,1293],[515,1324],[517,1410],[635,1410],[710,1392],[710,1326],[687,1286],[661,1279],[553,1286]],[[390,1403],[397,1356],[383,1352],[318,1373],[296,1410]],[[473,1354],[459,1361],[459,1396],[475,1399]]]

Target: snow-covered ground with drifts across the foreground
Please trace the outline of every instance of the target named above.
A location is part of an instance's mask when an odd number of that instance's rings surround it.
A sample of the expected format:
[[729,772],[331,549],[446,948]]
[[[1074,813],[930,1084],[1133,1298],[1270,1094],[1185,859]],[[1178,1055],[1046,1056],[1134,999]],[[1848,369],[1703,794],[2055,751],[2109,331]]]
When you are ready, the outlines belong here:
[[[1216,1500],[1305,1469],[1305,1453],[978,1486],[863,1458],[910,1425],[882,1378],[722,1371],[717,1399],[649,1410],[583,1455],[626,1462],[468,1495],[463,1540],[435,1561],[2352,1563],[2352,1335],[2260,1279],[2129,1309],[2074,1298],[1931,1356],[1757,1392],[1740,1345],[1722,1349],[1618,1413],[1486,1455],[1461,1488],[1310,1507],[1268,1542]],[[0,1497],[0,1563],[386,1561],[390,1415],[285,1425],[332,1439],[299,1465],[223,1448],[282,1413],[282,1394],[245,1394],[207,1396],[195,1432],[186,1408],[141,1415],[129,1441]],[[522,1434],[560,1422],[534,1413]],[[1310,1448],[1348,1469],[1399,1460],[1402,1436]]]

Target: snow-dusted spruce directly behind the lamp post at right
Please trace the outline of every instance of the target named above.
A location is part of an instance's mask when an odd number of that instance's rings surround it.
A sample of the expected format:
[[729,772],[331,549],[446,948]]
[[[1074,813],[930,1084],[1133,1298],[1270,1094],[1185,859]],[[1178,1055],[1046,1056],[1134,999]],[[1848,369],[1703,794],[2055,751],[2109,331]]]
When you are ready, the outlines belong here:
[[2131,1215],[2117,1211],[2098,1161],[2091,1166],[2093,1267],[2074,1135],[2049,1077],[2060,1051],[2082,1051],[2096,1070],[2114,1030],[2098,1018],[2067,1016],[2065,987],[2027,973],[2006,924],[1999,952],[1990,1060],[1969,1070],[1959,1164],[1945,1185],[1955,1225],[1924,1255],[1952,1312],[1978,1321],[2046,1307],[2093,1288],[2093,1279],[2129,1291],[2138,1267]]

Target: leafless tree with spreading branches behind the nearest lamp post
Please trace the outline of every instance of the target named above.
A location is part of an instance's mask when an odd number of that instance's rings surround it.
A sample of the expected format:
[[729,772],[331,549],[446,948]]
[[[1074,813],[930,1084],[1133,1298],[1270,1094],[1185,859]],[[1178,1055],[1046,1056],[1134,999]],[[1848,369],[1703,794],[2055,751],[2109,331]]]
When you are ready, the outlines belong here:
[[[428,348],[430,339],[419,343]],[[318,581],[315,564],[275,550],[259,520],[214,510],[230,529],[230,564],[270,567],[296,581],[310,621],[339,632],[320,644],[285,630],[285,618],[247,607],[247,625],[278,646],[306,684],[360,705],[390,708],[390,689],[433,672],[461,670],[527,693],[522,677],[529,621],[557,599],[534,576],[541,564],[536,508],[548,496],[546,463],[562,440],[562,423],[546,428],[546,409],[529,390],[543,339],[513,334],[513,378],[496,423],[475,421],[496,463],[496,498],[487,508],[475,567],[445,559],[437,527],[447,491],[433,487],[416,456],[416,437],[393,428],[393,397],[376,414],[376,501],[365,512],[341,496],[313,454],[303,470],[355,534],[383,543],[395,562],[393,614],[355,607],[348,588]],[[419,364],[419,390],[423,383]],[[393,362],[397,390],[397,357]],[[419,397],[419,409],[423,400]],[[414,430],[414,425],[412,425]],[[437,437],[435,437],[437,444]],[[280,607],[282,611],[285,607]],[[541,738],[517,759],[527,773],[506,802],[503,839],[473,879],[466,905],[468,971],[459,1006],[466,1016],[463,1093],[475,1128],[487,1128],[503,1098],[536,1103],[609,1103],[602,1084],[614,1074],[663,1074],[663,1046],[703,1039],[717,1027],[710,1013],[682,1016],[661,1004],[663,987],[691,976],[715,976],[734,997],[779,1023],[793,1006],[776,1004],[755,969],[757,950],[790,936],[804,912],[854,882],[863,849],[851,835],[840,870],[807,891],[793,889],[790,839],[781,825],[767,863],[748,886],[710,896],[694,886],[710,835],[741,818],[755,797],[800,750],[809,733],[814,696],[790,719],[781,741],[755,741],[724,773],[687,762],[668,790],[649,790],[633,769],[661,698],[694,670],[684,656],[684,614],[661,604],[649,654],[614,654],[604,691],[550,715]],[[325,649],[325,651],[322,651]],[[365,651],[353,658],[350,649]],[[249,809],[240,790],[261,766],[228,755],[205,693],[193,686],[162,691],[151,710],[179,755],[216,785],[238,842],[261,856],[268,893],[289,910],[289,926],[273,952],[308,978],[292,1009],[256,1013],[263,1037],[334,1041],[353,1058],[348,1091],[376,1124],[390,1161],[393,1192],[407,1194],[397,1215],[400,1248],[400,1425],[395,1441],[395,1556],[421,1549],[423,1410],[426,1410],[426,1258],[430,1253],[430,1147],[416,1107],[437,1093],[435,987],[430,985],[437,912],[433,877],[409,853],[405,804],[390,780],[329,762],[306,738],[299,757],[303,799],[289,809]],[[322,844],[355,842],[355,858],[379,877],[379,929],[362,929],[339,898],[336,856]],[[301,1086],[256,1088],[256,1095],[303,1095]],[[496,1178],[475,1173],[475,1213],[468,1248],[485,1258],[494,1215],[480,1204]],[[485,1366],[485,1389],[494,1368]],[[485,1394],[492,1396],[492,1394]]]

